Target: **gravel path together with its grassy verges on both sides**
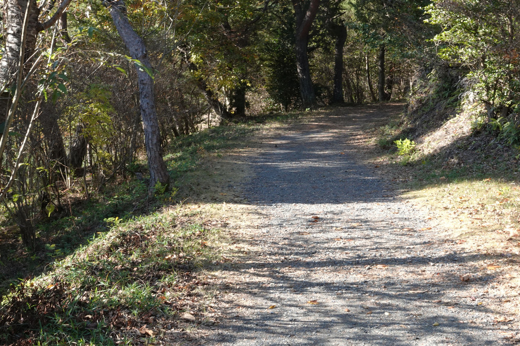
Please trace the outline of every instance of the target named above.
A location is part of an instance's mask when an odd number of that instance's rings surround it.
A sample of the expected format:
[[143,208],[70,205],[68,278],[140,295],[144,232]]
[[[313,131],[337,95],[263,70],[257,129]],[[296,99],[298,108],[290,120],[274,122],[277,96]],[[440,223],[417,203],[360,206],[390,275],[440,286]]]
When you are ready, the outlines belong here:
[[184,139],[170,157],[177,193],[101,218],[96,239],[12,288],[0,338],[515,342],[515,172],[400,165],[376,142],[401,110],[329,108]]

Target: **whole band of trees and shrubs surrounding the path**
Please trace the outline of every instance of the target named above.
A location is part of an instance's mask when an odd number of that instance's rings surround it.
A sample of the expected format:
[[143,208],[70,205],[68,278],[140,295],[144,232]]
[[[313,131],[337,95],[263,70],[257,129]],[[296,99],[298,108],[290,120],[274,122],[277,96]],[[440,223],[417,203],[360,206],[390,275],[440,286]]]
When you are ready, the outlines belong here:
[[517,1],[4,3],[2,224],[32,250],[71,201],[128,177],[164,192],[164,148],[262,113],[404,100],[422,78],[520,142]]

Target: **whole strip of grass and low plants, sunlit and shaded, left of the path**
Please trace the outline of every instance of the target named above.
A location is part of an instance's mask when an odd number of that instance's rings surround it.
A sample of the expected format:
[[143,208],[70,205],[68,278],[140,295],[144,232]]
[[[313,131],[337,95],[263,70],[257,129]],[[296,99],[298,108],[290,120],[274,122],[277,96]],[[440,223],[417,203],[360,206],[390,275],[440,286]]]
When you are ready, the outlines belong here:
[[33,254],[12,231],[2,233],[0,343],[147,344],[168,340],[164,330],[179,328],[179,312],[203,322],[197,297],[211,294],[197,272],[222,258],[225,223],[183,208],[175,193],[206,156],[244,145],[257,128],[231,124],[176,140],[165,156],[171,192],[148,198],[145,177],[77,198],[40,224]]

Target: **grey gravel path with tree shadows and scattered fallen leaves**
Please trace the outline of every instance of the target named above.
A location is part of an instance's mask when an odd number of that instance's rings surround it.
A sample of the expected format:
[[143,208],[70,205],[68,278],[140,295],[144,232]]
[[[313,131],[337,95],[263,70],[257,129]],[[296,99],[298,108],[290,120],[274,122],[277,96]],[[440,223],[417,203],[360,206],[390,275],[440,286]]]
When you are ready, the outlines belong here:
[[237,230],[242,257],[212,274],[226,317],[205,345],[509,342],[484,258],[454,251],[366,162],[363,131],[399,111],[323,113],[250,157],[256,216]]

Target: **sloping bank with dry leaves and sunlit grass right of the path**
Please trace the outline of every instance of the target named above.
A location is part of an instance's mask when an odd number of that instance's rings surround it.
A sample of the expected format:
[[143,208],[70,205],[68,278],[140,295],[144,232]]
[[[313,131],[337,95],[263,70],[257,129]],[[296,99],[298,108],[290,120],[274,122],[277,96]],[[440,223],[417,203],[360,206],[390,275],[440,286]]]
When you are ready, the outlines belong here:
[[[461,246],[517,265],[520,151],[460,110],[437,103],[389,119],[374,136],[383,149],[377,163],[403,183],[405,197],[430,208]],[[401,144],[399,155],[395,141],[407,138],[414,143]]]

